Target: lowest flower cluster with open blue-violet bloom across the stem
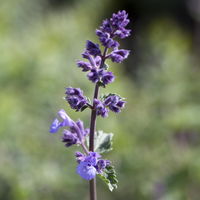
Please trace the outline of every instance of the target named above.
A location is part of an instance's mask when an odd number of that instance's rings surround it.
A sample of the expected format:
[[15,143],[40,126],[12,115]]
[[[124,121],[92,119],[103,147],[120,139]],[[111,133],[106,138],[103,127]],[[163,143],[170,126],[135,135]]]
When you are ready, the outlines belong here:
[[93,179],[96,174],[101,174],[110,165],[110,161],[100,159],[101,156],[97,152],[89,152],[88,155],[76,152],[75,155],[79,163],[77,173],[86,180]]

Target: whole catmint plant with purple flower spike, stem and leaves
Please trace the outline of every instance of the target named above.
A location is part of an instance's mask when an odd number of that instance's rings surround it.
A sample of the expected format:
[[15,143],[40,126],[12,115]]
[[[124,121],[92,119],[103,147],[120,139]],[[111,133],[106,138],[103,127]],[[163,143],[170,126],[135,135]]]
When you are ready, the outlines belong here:
[[102,154],[112,149],[112,133],[96,131],[97,116],[106,118],[109,112],[119,113],[124,108],[126,101],[117,94],[107,94],[99,97],[100,87],[105,88],[115,80],[114,74],[109,71],[107,60],[121,63],[130,51],[119,49],[117,38],[124,39],[130,35],[126,29],[129,23],[126,11],[114,13],[110,19],[103,21],[96,35],[102,45],[90,40],[86,41],[86,47],[82,54],[84,60],[77,61],[77,66],[86,73],[86,76],[94,84],[94,96],[92,103],[84,96],[80,88],[67,87],[65,100],[75,111],[91,110],[90,128],[85,128],[81,120],[74,121],[65,110],[61,109],[50,126],[50,133],[62,130],[62,142],[66,147],[77,145],[82,147],[82,152],[77,151],[76,172],[90,184],[90,199],[96,200],[96,176],[99,176],[112,191],[117,188],[117,178],[111,161],[102,157]]

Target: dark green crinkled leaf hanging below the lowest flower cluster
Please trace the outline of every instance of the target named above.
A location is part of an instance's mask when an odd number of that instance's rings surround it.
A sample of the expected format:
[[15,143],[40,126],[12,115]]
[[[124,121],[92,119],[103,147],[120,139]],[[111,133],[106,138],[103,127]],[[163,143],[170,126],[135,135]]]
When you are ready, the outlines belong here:
[[111,192],[113,191],[113,189],[117,189],[118,180],[114,166],[107,166],[103,173],[98,174],[98,176],[107,184]]

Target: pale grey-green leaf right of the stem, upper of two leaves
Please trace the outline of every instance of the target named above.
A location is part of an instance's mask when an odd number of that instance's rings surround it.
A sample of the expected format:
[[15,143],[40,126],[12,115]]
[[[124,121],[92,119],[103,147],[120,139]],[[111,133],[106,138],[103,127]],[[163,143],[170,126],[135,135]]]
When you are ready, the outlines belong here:
[[94,138],[94,151],[105,153],[112,150],[113,133],[97,131]]

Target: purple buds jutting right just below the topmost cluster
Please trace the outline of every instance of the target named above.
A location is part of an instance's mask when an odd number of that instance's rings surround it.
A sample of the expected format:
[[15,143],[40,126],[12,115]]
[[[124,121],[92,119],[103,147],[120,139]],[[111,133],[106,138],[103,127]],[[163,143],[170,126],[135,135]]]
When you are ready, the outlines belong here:
[[114,50],[111,52],[108,58],[111,58],[113,62],[121,63],[124,59],[128,57],[129,53],[130,51],[125,49]]

